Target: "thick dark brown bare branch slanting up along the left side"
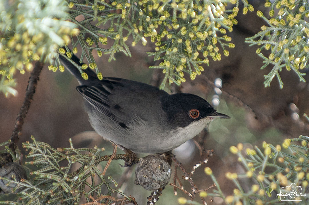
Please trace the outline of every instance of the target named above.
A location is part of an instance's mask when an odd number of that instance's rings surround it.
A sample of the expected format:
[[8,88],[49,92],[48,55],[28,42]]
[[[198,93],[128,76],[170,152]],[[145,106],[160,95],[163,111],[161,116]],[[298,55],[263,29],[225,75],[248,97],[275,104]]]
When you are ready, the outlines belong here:
[[36,90],[36,85],[37,82],[39,80],[39,75],[40,72],[43,68],[43,63],[37,61],[36,64],[34,65],[33,71],[29,77],[29,82],[28,82],[28,86],[26,88],[26,94],[25,94],[25,98],[23,101],[23,104],[20,108],[20,111],[17,115],[16,118],[16,123],[14,126],[14,130],[11,136],[11,144],[9,145],[9,148],[11,148],[14,152],[15,152],[15,148],[16,148],[16,143],[19,139],[19,137],[21,136],[21,129],[23,126],[23,120],[26,117],[26,114],[29,110],[30,104],[33,100],[33,95],[35,93]]

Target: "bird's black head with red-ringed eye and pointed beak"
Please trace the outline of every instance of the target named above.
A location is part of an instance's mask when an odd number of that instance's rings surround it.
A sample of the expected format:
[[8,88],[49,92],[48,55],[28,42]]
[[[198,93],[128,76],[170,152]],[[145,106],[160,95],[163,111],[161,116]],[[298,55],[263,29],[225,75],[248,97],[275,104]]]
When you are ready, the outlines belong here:
[[227,115],[218,113],[203,98],[186,93],[169,95],[162,100],[163,110],[167,113],[167,118],[173,127],[186,127],[195,120],[208,117],[230,118]]

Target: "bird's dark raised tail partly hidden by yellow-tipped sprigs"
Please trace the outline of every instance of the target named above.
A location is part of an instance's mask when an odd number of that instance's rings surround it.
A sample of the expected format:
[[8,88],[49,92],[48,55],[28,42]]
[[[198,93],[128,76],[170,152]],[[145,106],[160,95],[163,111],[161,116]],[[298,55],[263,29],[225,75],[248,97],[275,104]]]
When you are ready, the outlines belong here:
[[[79,66],[83,65],[82,63],[80,63],[79,58],[74,54],[72,54],[72,57],[70,59]],[[68,69],[72,75],[74,75],[80,85],[87,85],[89,84],[89,82],[93,83],[95,81],[99,81],[95,72],[93,72],[89,67],[83,70],[83,72],[87,73],[88,75],[88,80],[85,80],[77,67],[61,54],[59,54],[59,60],[60,64],[63,65],[66,69]]]

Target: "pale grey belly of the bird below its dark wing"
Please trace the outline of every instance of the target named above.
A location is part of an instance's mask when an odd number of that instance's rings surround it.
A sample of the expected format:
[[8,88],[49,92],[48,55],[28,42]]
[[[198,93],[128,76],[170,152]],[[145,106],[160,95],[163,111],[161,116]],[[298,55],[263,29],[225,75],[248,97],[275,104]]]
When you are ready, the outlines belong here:
[[106,140],[130,149],[134,153],[162,153],[175,149],[194,136],[179,136],[149,124],[136,124],[123,128],[104,114],[88,111],[95,131]]

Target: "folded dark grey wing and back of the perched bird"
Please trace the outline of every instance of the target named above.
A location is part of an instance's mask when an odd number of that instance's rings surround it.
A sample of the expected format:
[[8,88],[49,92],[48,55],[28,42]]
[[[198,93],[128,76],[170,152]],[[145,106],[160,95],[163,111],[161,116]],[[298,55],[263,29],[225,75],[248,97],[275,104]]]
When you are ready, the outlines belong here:
[[81,85],[76,89],[95,110],[123,127],[135,118],[150,118],[151,109],[161,107],[159,98],[154,96],[168,95],[148,84],[113,77],[103,77],[97,84]]

